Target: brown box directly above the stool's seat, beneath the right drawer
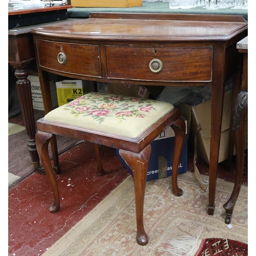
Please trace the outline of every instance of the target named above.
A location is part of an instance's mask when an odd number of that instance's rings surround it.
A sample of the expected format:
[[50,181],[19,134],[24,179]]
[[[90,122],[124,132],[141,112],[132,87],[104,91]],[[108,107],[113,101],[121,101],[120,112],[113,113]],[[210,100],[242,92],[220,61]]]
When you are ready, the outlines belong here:
[[141,86],[131,83],[108,83],[106,92],[125,96],[156,99],[164,89],[163,86]]

